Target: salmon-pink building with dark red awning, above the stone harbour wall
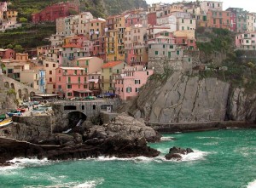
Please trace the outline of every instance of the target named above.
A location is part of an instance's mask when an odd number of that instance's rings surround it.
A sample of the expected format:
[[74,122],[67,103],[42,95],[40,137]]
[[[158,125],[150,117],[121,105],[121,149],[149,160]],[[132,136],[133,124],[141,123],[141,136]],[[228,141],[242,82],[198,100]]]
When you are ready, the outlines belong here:
[[55,70],[56,93],[60,97],[70,99],[73,97],[85,97],[90,95],[88,88],[88,75],[84,68],[59,67]]

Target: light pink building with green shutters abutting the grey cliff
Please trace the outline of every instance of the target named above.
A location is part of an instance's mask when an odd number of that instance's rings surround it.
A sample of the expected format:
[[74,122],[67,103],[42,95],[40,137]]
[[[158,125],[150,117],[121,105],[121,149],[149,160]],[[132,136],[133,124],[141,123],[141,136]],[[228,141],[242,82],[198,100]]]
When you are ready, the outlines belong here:
[[115,78],[115,94],[119,94],[122,100],[131,100],[153,73],[143,66],[125,66],[122,74]]

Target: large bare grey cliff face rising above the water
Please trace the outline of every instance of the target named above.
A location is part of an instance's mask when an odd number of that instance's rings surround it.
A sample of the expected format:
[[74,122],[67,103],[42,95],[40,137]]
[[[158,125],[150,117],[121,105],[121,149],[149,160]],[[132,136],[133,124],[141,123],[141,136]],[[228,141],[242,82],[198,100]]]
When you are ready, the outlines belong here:
[[232,89],[217,78],[200,79],[176,72],[166,83],[150,80],[130,112],[149,122],[253,122],[255,99],[255,95]]

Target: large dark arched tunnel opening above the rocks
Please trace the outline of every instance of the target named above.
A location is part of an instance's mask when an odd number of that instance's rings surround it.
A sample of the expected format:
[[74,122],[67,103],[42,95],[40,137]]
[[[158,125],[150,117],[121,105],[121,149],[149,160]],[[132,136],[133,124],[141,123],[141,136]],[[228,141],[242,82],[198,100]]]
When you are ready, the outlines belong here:
[[81,111],[72,111],[68,113],[68,127],[74,128],[80,126],[87,118],[87,116]]

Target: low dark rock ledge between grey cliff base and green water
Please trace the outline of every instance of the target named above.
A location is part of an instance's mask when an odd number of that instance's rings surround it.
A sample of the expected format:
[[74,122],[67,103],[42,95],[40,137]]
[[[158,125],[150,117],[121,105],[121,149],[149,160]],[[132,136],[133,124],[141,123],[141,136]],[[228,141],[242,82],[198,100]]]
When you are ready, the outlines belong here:
[[244,121],[216,121],[216,122],[145,122],[145,124],[160,134],[173,134],[177,132],[203,132],[224,128],[256,128],[253,122]]

